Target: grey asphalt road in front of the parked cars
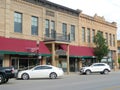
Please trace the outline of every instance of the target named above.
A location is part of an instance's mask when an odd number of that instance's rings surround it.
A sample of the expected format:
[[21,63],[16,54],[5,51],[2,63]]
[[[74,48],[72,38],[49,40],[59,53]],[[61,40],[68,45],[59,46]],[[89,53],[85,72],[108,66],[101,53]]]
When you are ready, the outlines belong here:
[[0,85],[0,90],[120,90],[120,71],[108,75],[72,73],[59,79],[15,80]]

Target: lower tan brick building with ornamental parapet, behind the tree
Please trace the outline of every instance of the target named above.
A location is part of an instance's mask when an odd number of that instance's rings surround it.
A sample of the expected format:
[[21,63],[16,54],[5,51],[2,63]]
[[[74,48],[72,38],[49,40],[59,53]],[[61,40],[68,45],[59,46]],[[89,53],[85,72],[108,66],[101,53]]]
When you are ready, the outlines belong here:
[[[80,46],[95,47],[94,36],[101,32],[109,46],[108,56],[102,59],[102,62],[108,63],[111,68],[117,66],[117,25],[116,22],[108,22],[104,17],[95,14],[93,17],[80,14]],[[89,58],[90,59],[90,58]],[[90,60],[91,62],[95,61]],[[114,64],[114,65],[113,65]]]

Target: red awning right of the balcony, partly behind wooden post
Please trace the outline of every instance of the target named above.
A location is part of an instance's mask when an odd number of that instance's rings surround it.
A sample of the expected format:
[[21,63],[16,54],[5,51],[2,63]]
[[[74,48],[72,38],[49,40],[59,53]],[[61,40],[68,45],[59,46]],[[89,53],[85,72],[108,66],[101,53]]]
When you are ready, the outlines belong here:
[[[61,45],[62,49],[67,50],[67,45]],[[69,46],[70,56],[94,56],[94,49],[85,46]]]

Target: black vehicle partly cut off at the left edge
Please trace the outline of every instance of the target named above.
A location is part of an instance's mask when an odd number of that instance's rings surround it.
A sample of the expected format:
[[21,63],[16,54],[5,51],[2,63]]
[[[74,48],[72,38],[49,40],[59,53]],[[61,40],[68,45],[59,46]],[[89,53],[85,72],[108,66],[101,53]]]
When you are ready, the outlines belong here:
[[0,84],[7,83],[10,78],[14,78],[14,68],[0,67]]

